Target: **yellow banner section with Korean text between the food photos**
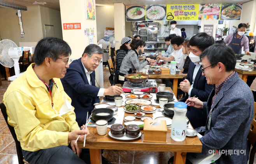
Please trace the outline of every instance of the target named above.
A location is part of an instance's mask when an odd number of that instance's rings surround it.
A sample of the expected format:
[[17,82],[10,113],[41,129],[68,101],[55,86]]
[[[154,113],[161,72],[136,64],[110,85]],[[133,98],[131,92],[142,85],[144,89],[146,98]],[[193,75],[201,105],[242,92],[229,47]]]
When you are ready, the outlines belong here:
[[198,5],[167,5],[167,20],[198,20]]

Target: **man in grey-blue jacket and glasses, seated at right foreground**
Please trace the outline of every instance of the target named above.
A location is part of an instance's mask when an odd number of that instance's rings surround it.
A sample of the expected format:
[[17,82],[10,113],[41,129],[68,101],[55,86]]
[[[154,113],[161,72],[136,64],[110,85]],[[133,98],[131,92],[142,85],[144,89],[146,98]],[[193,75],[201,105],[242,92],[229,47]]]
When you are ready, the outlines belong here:
[[206,126],[196,129],[205,132],[200,138],[202,153],[188,153],[193,159],[218,150],[222,155],[216,164],[247,164],[249,134],[254,115],[254,98],[249,86],[235,72],[234,51],[226,45],[213,44],[200,55],[202,74],[213,90],[207,102],[189,98],[193,106],[207,112]]

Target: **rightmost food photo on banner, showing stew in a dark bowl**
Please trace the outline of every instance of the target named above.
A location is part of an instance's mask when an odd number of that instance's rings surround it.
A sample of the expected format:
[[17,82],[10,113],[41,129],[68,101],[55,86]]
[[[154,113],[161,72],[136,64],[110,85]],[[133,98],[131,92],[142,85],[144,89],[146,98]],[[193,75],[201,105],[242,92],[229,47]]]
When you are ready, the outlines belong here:
[[240,20],[242,4],[221,4],[220,20]]

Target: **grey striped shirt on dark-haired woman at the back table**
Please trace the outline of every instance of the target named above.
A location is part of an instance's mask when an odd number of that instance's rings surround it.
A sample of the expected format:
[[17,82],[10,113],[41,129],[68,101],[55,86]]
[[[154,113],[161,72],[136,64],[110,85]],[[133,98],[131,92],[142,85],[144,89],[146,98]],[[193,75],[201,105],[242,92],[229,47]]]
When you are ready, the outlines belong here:
[[128,75],[129,73],[134,73],[135,70],[141,70],[146,65],[148,65],[148,61],[146,59],[139,61],[139,54],[137,51],[131,50],[124,57],[119,73]]

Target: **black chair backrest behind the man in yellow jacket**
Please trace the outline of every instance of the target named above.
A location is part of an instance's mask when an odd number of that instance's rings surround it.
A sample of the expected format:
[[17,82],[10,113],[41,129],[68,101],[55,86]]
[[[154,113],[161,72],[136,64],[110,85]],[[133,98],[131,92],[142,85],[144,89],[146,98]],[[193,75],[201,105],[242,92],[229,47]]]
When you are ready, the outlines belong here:
[[12,133],[12,137],[13,137],[15,143],[16,143],[16,150],[17,150],[19,164],[24,164],[23,154],[22,154],[22,151],[21,151],[21,143],[17,139],[16,133],[14,131],[14,127],[9,125],[9,123],[7,121],[8,116],[7,116],[7,113],[6,113],[6,107],[5,107],[4,103],[0,104],[0,109],[1,109],[2,114],[4,116],[4,120],[6,121],[6,123],[8,125],[8,128],[10,129],[10,132]]

